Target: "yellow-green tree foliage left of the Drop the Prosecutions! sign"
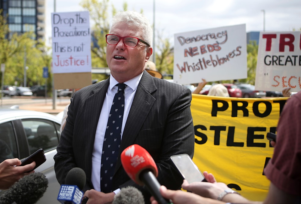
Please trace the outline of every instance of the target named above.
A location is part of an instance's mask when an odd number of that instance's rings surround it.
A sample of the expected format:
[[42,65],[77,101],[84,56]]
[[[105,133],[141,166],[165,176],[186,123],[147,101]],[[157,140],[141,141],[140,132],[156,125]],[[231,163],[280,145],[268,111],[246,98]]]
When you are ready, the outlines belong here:
[[26,71],[26,86],[45,84],[43,67],[51,65],[45,44],[33,40],[35,36],[32,32],[10,32],[6,19],[0,15],[0,63],[5,63],[4,84],[22,86],[26,66],[29,67]]

